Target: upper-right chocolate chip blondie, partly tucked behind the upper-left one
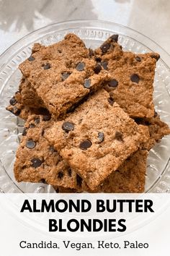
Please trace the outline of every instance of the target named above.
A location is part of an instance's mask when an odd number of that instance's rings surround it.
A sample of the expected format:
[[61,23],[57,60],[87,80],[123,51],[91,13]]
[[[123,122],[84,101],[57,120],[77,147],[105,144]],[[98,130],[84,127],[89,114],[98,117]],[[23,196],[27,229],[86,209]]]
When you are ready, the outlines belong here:
[[113,35],[95,51],[112,77],[106,90],[131,117],[150,118],[154,116],[153,81],[159,55],[122,51],[117,39]]

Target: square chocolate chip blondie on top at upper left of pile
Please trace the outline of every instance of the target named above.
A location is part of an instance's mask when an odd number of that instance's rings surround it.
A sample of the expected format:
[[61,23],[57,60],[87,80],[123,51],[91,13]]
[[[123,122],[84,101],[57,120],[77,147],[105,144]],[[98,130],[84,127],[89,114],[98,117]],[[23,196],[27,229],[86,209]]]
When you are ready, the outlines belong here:
[[52,46],[40,48],[20,64],[19,69],[55,117],[65,114],[110,78],[74,34],[66,35],[64,40]]

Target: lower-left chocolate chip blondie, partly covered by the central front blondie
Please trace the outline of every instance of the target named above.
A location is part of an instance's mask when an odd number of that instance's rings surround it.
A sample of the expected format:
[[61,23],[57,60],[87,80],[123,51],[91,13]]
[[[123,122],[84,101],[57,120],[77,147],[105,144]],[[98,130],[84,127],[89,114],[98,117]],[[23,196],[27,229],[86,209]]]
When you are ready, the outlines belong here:
[[17,182],[43,182],[54,187],[79,190],[81,177],[71,171],[58,152],[43,137],[45,129],[52,124],[49,116],[32,115],[27,119],[14,163],[15,179]]

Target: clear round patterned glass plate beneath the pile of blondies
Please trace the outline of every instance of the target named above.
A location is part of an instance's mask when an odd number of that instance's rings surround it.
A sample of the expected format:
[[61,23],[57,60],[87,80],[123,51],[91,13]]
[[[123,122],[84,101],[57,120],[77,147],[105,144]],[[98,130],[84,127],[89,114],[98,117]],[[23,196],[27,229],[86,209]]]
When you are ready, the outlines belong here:
[[[43,27],[25,36],[8,48],[0,58],[0,192],[55,192],[46,184],[17,183],[13,166],[15,153],[22,134],[22,119],[6,111],[9,99],[17,91],[21,73],[17,68],[31,54],[33,43],[50,45],[62,40],[67,33],[75,33],[84,40],[87,47],[96,48],[110,35],[118,33],[119,43],[125,51],[161,54],[156,67],[154,82],[154,103],[161,119],[170,124],[170,56],[151,39],[112,22],[76,20]],[[146,192],[169,192],[170,164],[169,137],[164,137],[149,153]]]

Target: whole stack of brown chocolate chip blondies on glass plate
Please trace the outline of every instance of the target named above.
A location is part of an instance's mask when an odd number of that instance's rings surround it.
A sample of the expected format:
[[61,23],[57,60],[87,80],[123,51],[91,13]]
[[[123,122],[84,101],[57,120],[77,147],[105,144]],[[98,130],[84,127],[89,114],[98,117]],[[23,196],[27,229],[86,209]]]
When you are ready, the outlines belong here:
[[148,151],[170,134],[153,105],[156,53],[122,51],[112,35],[96,50],[74,34],[35,43],[6,109],[25,119],[17,182],[56,192],[143,192]]

